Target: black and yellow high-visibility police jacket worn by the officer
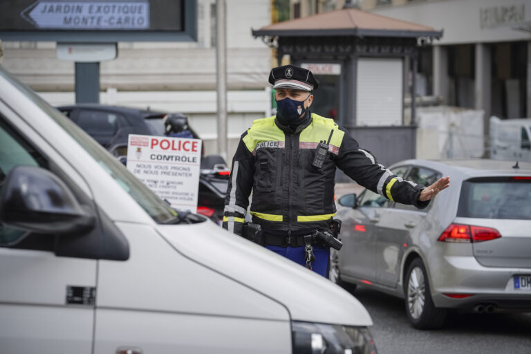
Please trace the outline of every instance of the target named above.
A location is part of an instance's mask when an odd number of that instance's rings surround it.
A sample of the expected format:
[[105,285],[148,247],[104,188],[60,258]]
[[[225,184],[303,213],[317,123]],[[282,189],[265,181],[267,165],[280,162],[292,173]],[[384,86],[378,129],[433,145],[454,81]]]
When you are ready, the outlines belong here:
[[[273,116],[255,120],[242,134],[232,160],[223,227],[241,234],[252,191],[252,221],[264,230],[328,229],[336,214],[336,167],[391,201],[419,208],[428,205],[418,201],[424,186],[392,174],[333,120],[307,114],[311,118],[295,131]],[[323,140],[329,140],[328,154],[317,168],[313,160]]]

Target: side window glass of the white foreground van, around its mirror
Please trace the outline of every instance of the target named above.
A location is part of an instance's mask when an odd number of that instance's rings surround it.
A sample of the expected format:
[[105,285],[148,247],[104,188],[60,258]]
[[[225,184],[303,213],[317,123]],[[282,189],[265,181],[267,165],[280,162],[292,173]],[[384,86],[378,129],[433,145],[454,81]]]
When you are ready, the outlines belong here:
[[[10,129],[6,120],[0,116],[0,195],[9,171],[20,165],[47,167],[46,160]],[[26,234],[28,232],[0,223],[0,245],[17,243]]]

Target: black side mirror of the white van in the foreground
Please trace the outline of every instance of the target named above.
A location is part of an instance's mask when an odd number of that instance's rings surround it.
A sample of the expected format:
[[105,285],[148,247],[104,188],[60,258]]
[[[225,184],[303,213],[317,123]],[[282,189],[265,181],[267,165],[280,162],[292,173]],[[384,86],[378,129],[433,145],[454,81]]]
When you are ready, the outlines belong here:
[[66,234],[90,229],[95,216],[55,174],[40,167],[17,166],[1,190],[0,221],[31,232]]

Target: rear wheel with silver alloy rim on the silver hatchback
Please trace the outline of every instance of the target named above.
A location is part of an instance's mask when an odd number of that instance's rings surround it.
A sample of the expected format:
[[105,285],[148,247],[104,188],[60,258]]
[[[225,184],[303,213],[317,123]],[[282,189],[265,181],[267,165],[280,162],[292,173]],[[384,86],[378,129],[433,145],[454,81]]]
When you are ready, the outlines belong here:
[[443,326],[447,310],[436,308],[431,300],[426,268],[420,258],[414,259],[409,265],[404,290],[406,313],[413,327],[428,329]]

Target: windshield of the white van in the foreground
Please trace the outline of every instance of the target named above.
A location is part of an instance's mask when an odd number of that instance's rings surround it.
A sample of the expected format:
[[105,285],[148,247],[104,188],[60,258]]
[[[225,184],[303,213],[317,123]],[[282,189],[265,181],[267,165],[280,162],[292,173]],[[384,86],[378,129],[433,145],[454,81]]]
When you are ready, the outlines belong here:
[[168,203],[162,201],[151,189],[146,187],[140,180],[131,174],[118,160],[113,158],[104,148],[102,148],[93,138],[88,136],[82,129],[77,127],[71,120],[66,118],[61,112],[54,109],[39,95],[34,93],[26,85],[21,84],[15,77],[0,69],[0,75],[12,82],[20,91],[37,104],[50,118],[55,120],[74,140],[79,143],[122,187],[153,220],[157,223],[169,223],[174,220],[176,212],[171,209]]

